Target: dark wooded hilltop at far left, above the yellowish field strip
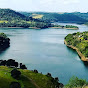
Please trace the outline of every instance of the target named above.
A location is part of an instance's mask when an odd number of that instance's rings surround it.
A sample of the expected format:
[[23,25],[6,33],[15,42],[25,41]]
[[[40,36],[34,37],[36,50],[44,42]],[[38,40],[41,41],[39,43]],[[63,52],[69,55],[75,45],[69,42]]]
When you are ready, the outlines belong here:
[[11,9],[0,9],[0,20],[26,20],[27,17]]

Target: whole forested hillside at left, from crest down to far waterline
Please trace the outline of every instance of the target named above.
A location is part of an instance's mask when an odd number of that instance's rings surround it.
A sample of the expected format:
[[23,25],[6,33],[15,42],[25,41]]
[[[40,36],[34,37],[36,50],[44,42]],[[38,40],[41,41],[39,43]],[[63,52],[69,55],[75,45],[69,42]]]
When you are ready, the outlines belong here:
[[14,10],[0,9],[0,27],[47,28],[50,26],[49,22],[25,16]]

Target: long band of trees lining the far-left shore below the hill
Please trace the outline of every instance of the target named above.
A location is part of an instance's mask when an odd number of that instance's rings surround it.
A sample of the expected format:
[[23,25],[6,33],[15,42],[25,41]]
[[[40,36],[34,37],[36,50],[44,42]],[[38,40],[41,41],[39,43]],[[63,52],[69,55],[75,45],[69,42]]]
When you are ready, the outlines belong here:
[[15,21],[14,22],[3,22],[0,23],[0,27],[22,27],[22,28],[29,28],[29,27],[36,27],[36,28],[48,28],[51,27],[50,23],[46,23],[46,22],[35,22],[35,21],[31,21],[30,23],[28,23],[27,21]]

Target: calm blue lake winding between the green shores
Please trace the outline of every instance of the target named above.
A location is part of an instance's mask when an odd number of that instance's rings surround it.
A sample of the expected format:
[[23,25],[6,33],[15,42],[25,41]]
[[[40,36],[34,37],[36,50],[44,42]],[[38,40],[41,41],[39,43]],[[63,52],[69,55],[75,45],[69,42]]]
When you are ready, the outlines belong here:
[[24,63],[29,70],[37,69],[43,74],[49,72],[53,77],[59,77],[63,84],[72,76],[88,81],[88,67],[74,50],[64,44],[67,34],[88,31],[88,27],[72,25],[78,26],[79,30],[0,28],[0,32],[6,33],[11,39],[10,47],[0,52],[0,59],[15,59]]

